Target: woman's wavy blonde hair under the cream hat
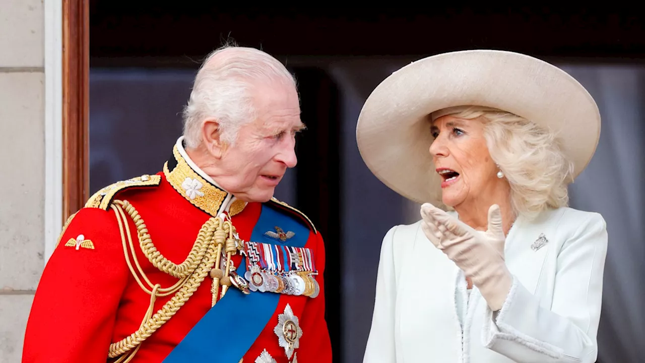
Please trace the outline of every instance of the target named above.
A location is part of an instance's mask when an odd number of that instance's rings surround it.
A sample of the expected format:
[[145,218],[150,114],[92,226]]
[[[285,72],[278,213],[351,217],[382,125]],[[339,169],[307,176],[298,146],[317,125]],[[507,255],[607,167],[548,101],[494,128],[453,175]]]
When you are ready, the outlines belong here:
[[553,132],[502,110],[465,106],[439,113],[484,122],[488,151],[510,183],[516,215],[531,219],[545,209],[568,206],[573,163]]

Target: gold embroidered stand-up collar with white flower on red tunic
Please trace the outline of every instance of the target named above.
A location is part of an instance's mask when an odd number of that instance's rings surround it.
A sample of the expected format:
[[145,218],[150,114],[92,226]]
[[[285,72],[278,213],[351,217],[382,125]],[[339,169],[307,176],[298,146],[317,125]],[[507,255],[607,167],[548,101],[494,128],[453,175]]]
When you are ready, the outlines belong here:
[[225,211],[233,216],[243,211],[246,202],[217,186],[188,158],[183,150],[183,138],[177,140],[172,154],[174,158],[164,163],[163,172],[170,185],[188,202],[211,216],[218,216]]

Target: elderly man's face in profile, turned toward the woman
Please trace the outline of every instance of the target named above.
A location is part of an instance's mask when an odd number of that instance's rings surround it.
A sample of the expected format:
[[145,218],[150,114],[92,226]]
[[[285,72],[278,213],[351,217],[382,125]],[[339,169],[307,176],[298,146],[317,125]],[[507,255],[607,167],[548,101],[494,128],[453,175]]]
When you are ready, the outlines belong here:
[[224,149],[217,183],[245,202],[266,202],[287,168],[295,167],[295,135],[304,125],[298,94],[286,85],[255,88],[257,119]]

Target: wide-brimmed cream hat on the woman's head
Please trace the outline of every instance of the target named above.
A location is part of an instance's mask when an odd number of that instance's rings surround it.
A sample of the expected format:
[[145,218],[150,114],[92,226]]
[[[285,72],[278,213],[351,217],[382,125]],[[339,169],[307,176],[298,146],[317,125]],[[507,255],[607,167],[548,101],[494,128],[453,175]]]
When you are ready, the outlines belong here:
[[445,209],[429,152],[429,116],[470,105],[511,112],[555,132],[573,162],[573,178],[598,145],[598,107],[569,74],[524,54],[465,50],[415,61],[373,90],[356,128],[364,162],[393,191]]

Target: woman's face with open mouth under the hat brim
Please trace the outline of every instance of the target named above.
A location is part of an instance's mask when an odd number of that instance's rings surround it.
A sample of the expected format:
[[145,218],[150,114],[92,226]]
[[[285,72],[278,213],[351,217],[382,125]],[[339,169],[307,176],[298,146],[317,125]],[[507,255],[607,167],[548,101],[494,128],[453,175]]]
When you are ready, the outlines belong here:
[[455,208],[486,200],[504,183],[497,178],[499,169],[488,152],[481,119],[442,116],[432,123],[432,135],[430,154],[442,178],[444,204]]

